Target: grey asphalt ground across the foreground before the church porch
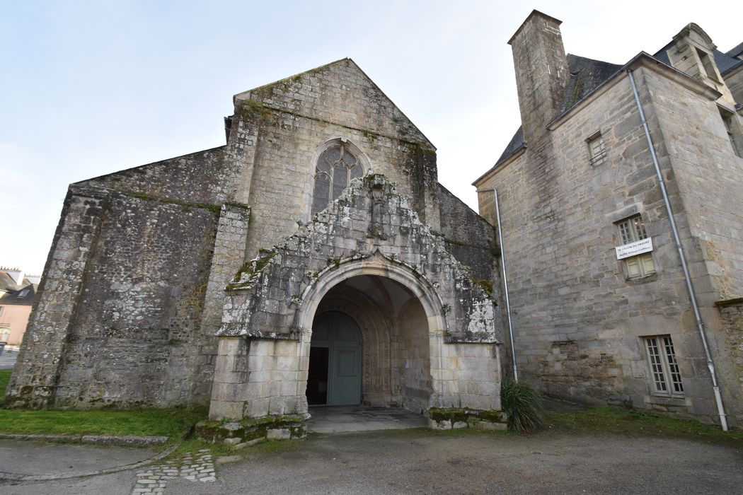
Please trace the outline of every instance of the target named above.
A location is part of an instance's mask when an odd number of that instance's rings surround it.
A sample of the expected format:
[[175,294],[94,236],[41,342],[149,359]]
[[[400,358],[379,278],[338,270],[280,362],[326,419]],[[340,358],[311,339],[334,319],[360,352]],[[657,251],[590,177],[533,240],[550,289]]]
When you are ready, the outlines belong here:
[[[80,447],[106,459],[119,448]],[[169,479],[165,494],[741,494],[743,450],[688,439],[545,432],[388,430],[316,435],[242,451],[217,481]],[[58,456],[36,450],[36,462]],[[0,462],[2,462],[0,460]],[[0,468],[0,471],[7,471]],[[0,481],[0,494],[132,494],[134,470],[45,482]]]

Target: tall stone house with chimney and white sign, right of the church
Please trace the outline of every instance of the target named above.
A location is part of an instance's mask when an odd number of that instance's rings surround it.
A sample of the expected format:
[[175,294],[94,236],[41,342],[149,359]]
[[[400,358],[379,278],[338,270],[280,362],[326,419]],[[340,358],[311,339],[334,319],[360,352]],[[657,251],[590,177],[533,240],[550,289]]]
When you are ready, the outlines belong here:
[[520,376],[743,426],[741,46],[689,24],[614,65],[566,56],[559,24],[534,11],[510,39],[522,126],[474,183],[502,222]]

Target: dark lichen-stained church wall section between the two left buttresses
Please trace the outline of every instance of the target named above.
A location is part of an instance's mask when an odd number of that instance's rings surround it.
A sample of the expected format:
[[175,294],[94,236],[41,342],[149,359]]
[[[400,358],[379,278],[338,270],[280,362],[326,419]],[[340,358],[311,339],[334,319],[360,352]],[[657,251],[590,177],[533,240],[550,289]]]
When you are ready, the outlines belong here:
[[216,212],[116,193],[107,206],[55,405],[203,402],[204,392],[199,398],[191,390],[215,353],[215,339],[200,342],[199,328]]

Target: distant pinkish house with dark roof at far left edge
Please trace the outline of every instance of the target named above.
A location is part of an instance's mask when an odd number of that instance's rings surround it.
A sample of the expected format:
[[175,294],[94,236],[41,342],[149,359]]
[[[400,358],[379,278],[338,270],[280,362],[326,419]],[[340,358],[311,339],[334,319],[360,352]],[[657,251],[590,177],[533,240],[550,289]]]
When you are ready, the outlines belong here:
[[0,268],[0,342],[21,344],[38,283],[19,269]]

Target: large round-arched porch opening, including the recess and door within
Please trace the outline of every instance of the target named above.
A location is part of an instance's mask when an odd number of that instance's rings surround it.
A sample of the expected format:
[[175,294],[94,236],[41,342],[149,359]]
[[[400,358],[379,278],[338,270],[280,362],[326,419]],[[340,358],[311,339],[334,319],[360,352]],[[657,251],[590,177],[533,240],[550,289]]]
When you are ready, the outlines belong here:
[[314,313],[308,405],[363,404],[424,413],[434,387],[429,335],[424,306],[403,283],[364,273],[336,281]]

